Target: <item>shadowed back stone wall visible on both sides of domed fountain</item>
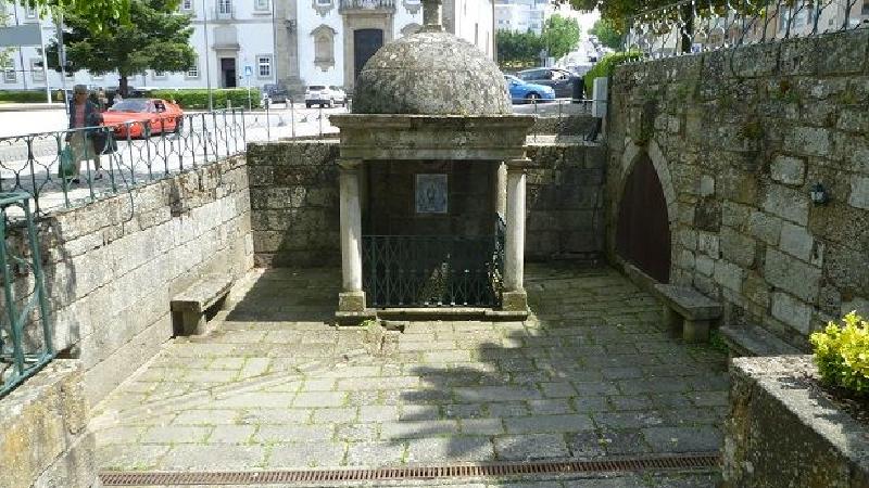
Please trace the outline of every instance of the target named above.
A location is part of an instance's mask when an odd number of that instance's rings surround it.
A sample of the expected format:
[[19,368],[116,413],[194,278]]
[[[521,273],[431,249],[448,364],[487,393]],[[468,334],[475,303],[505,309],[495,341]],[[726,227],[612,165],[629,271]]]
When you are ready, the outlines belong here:
[[[257,265],[340,266],[338,154],[338,144],[329,141],[250,144],[251,220]],[[536,143],[529,145],[528,157],[533,167],[528,170],[526,258],[596,260],[604,237],[603,147]],[[403,181],[412,183],[410,179]],[[466,189],[462,195],[484,197],[488,207],[491,197],[483,195],[490,180],[477,175],[468,181],[486,188],[476,189],[476,193]],[[466,182],[456,184],[461,189]],[[386,192],[377,184],[364,191]],[[465,198],[465,204],[474,202]],[[363,221],[367,228],[375,228],[367,220],[369,215],[370,209],[364,208]]]

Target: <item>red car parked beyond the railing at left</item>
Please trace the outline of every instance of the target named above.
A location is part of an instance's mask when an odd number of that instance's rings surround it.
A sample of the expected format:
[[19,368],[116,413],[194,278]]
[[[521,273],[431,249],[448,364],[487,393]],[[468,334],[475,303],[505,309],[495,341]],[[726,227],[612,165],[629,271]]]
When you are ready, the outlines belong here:
[[[103,125],[113,127],[116,139],[141,138],[161,132],[179,132],[184,111],[160,99],[127,99],[102,114]],[[128,123],[128,124],[127,124]]]

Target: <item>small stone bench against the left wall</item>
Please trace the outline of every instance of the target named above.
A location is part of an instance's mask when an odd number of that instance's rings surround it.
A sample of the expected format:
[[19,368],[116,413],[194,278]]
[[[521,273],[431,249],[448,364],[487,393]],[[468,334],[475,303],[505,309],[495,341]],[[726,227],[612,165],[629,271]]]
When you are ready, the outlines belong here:
[[203,277],[172,299],[172,322],[175,335],[205,332],[205,312],[219,310],[232,287],[232,279],[217,274]]

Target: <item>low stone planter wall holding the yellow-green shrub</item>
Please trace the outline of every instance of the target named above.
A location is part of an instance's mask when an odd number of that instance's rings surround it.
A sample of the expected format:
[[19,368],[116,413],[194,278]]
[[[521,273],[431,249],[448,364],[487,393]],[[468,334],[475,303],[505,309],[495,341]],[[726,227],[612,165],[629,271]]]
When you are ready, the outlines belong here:
[[869,429],[819,391],[810,356],[736,358],[730,373],[725,488],[869,486]]

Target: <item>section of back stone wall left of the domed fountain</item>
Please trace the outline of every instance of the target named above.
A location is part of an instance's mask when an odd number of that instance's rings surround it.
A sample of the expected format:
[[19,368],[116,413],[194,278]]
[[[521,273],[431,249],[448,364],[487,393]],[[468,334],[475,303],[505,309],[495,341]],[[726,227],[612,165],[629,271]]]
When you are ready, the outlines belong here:
[[257,266],[339,266],[338,142],[248,145]]

